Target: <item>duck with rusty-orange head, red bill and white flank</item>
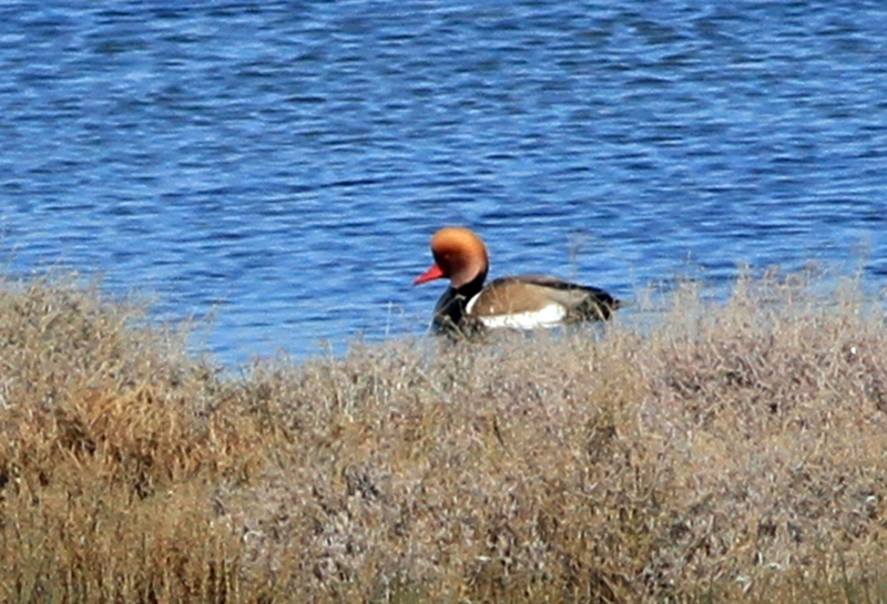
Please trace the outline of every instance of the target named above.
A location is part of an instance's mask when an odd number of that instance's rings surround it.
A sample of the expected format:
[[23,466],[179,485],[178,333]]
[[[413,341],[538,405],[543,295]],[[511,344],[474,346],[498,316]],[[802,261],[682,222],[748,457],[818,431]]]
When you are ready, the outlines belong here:
[[608,320],[624,306],[599,287],[548,275],[500,277],[486,284],[490,268],[483,240],[470,228],[447,226],[431,238],[431,267],[414,285],[449,279],[435,306],[436,334],[473,336],[487,329],[532,330]]

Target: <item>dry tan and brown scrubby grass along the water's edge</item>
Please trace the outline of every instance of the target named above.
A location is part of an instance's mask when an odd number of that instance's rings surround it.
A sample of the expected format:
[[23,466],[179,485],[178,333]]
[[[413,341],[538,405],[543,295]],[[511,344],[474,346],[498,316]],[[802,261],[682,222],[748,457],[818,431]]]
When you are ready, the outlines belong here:
[[0,293],[3,602],[887,602],[887,329],[849,287],[257,364]]

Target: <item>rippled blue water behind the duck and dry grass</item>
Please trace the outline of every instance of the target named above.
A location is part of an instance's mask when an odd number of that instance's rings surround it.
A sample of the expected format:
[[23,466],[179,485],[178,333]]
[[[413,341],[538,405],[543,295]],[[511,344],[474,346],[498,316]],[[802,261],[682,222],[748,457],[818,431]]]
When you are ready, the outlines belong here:
[[210,316],[231,365],[420,334],[446,224],[621,297],[887,278],[887,2],[194,4],[0,2],[6,274]]

